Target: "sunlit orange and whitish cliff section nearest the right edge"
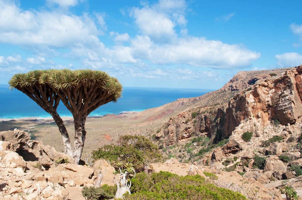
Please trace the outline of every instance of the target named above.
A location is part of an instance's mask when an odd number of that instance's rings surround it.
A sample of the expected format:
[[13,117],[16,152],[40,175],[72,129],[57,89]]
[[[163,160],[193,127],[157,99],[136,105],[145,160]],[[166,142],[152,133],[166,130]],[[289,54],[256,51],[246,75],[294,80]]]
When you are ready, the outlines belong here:
[[301,71],[302,66],[286,70],[231,98],[222,137],[229,137],[243,121],[256,134],[272,120],[283,125],[295,123],[302,116]]

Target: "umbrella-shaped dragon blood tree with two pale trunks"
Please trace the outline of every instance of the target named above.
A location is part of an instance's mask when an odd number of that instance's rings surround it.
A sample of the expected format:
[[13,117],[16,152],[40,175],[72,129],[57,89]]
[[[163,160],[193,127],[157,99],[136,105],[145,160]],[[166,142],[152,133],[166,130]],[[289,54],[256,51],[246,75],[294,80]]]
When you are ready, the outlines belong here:
[[[106,72],[89,69],[34,70],[15,74],[8,83],[11,89],[25,93],[53,117],[62,135],[65,153],[77,164],[85,143],[86,117],[99,106],[116,102],[123,89],[119,81]],[[73,116],[73,148],[63,120],[56,111],[60,100]]]

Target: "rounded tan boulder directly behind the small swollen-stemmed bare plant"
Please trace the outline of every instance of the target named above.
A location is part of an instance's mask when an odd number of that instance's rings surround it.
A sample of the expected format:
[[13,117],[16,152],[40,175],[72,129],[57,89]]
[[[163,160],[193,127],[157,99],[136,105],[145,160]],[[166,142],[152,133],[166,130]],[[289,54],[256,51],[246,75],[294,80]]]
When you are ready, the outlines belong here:
[[103,175],[101,185],[107,184],[107,185],[114,185],[114,174],[113,172],[115,171],[114,167],[112,167],[110,164],[108,164],[105,160],[97,160],[95,161],[95,164],[93,165],[93,174],[95,176],[98,176],[98,172],[100,170],[101,174],[104,173],[106,170],[106,173]]

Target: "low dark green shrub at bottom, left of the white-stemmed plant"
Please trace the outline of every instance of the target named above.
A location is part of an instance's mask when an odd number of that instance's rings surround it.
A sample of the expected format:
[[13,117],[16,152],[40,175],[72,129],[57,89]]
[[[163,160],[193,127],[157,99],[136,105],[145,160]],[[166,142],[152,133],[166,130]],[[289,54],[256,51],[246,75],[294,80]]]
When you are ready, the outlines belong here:
[[82,195],[88,200],[104,200],[114,198],[113,194],[106,193],[102,187],[95,188],[93,186],[90,186],[89,188],[84,186]]

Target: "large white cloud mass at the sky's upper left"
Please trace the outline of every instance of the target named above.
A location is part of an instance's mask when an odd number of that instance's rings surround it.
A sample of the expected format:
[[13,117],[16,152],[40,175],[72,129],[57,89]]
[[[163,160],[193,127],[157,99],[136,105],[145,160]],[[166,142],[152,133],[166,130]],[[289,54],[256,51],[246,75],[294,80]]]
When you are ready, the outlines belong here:
[[15,4],[0,2],[0,42],[66,48],[99,43],[98,34],[94,20],[87,13],[76,16],[23,11]]

